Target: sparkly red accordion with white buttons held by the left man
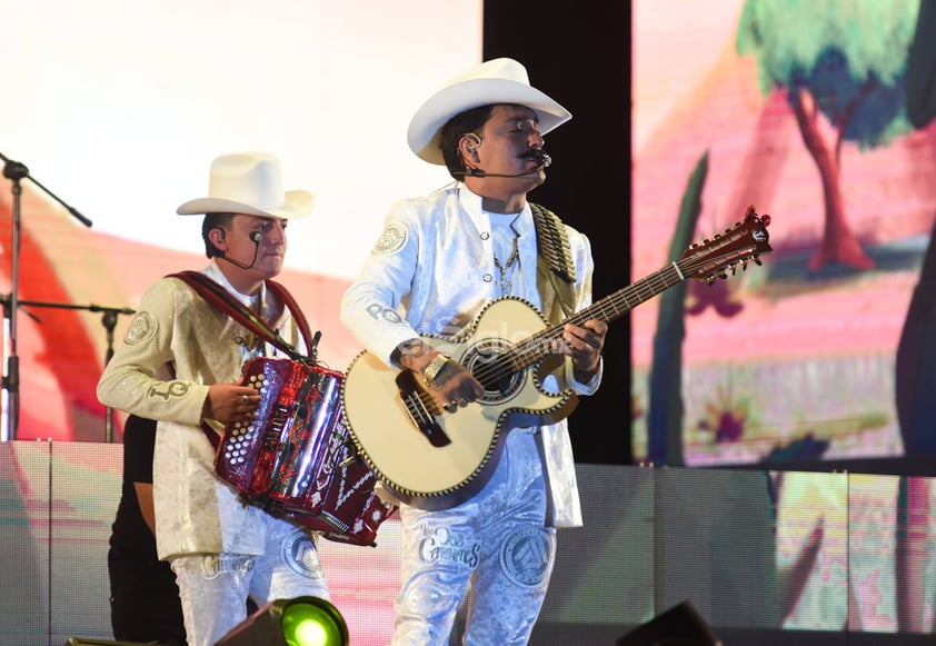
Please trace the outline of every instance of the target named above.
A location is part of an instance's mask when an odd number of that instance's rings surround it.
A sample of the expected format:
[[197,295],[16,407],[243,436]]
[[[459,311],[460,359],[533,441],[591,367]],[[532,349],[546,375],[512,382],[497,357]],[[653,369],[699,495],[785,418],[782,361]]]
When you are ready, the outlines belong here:
[[396,509],[375,493],[341,408],[343,375],[289,359],[257,358],[245,385],[260,394],[257,419],[232,423],[215,456],[218,475],[251,505],[285,514],[327,538],[374,545]]

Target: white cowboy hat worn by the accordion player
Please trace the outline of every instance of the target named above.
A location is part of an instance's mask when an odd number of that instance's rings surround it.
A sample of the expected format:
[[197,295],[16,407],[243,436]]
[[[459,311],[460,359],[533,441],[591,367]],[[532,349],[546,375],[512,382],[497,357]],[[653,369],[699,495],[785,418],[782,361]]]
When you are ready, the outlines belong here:
[[312,212],[313,205],[309,191],[282,189],[282,172],[276,157],[267,152],[238,152],[215,159],[208,197],[189,200],[176,212],[301,218]]

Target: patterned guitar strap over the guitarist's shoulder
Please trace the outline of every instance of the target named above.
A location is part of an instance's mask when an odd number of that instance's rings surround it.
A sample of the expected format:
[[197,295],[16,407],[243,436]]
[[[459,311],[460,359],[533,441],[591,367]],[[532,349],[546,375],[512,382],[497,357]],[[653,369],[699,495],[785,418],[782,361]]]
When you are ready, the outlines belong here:
[[530,202],[536,229],[536,282],[542,297],[542,309],[550,322],[559,322],[575,314],[572,285],[576,280],[569,237],[559,216]]

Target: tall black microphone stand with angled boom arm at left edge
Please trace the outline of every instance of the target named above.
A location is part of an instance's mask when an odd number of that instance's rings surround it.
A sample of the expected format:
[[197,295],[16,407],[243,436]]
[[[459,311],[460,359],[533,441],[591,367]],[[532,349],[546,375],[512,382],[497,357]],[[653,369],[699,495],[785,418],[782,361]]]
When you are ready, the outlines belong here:
[[22,196],[21,181],[29,178],[32,183],[41,188],[46,193],[62,205],[68,212],[80,220],[86,227],[91,226],[91,220],[79,213],[77,210],[68,206],[59,199],[52,191],[39,183],[36,178],[29,175],[29,169],[19,161],[12,161],[0,152],[0,159],[3,160],[3,177],[12,181],[13,192],[13,236],[12,236],[12,271],[10,272],[10,302],[9,308],[4,306],[3,316],[10,321],[9,334],[7,335],[7,356],[6,371],[3,372],[2,387],[6,391],[6,406],[3,407],[3,423],[4,426],[0,429],[0,439],[11,440],[17,439],[17,428],[19,425],[19,356],[17,355],[17,310],[19,309],[19,264],[20,264],[20,196]]

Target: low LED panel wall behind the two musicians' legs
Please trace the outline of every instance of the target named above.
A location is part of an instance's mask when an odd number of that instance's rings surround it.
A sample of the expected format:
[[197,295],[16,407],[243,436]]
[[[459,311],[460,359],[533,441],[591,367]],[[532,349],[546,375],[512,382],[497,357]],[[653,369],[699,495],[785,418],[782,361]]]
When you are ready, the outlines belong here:
[[[112,639],[106,558],[120,468],[120,445],[0,443],[0,644]],[[559,533],[532,646],[613,646],[684,600],[726,646],[934,643],[936,480],[577,469],[585,527]],[[398,521],[376,547],[323,540],[320,553],[351,645],[388,643]]]

